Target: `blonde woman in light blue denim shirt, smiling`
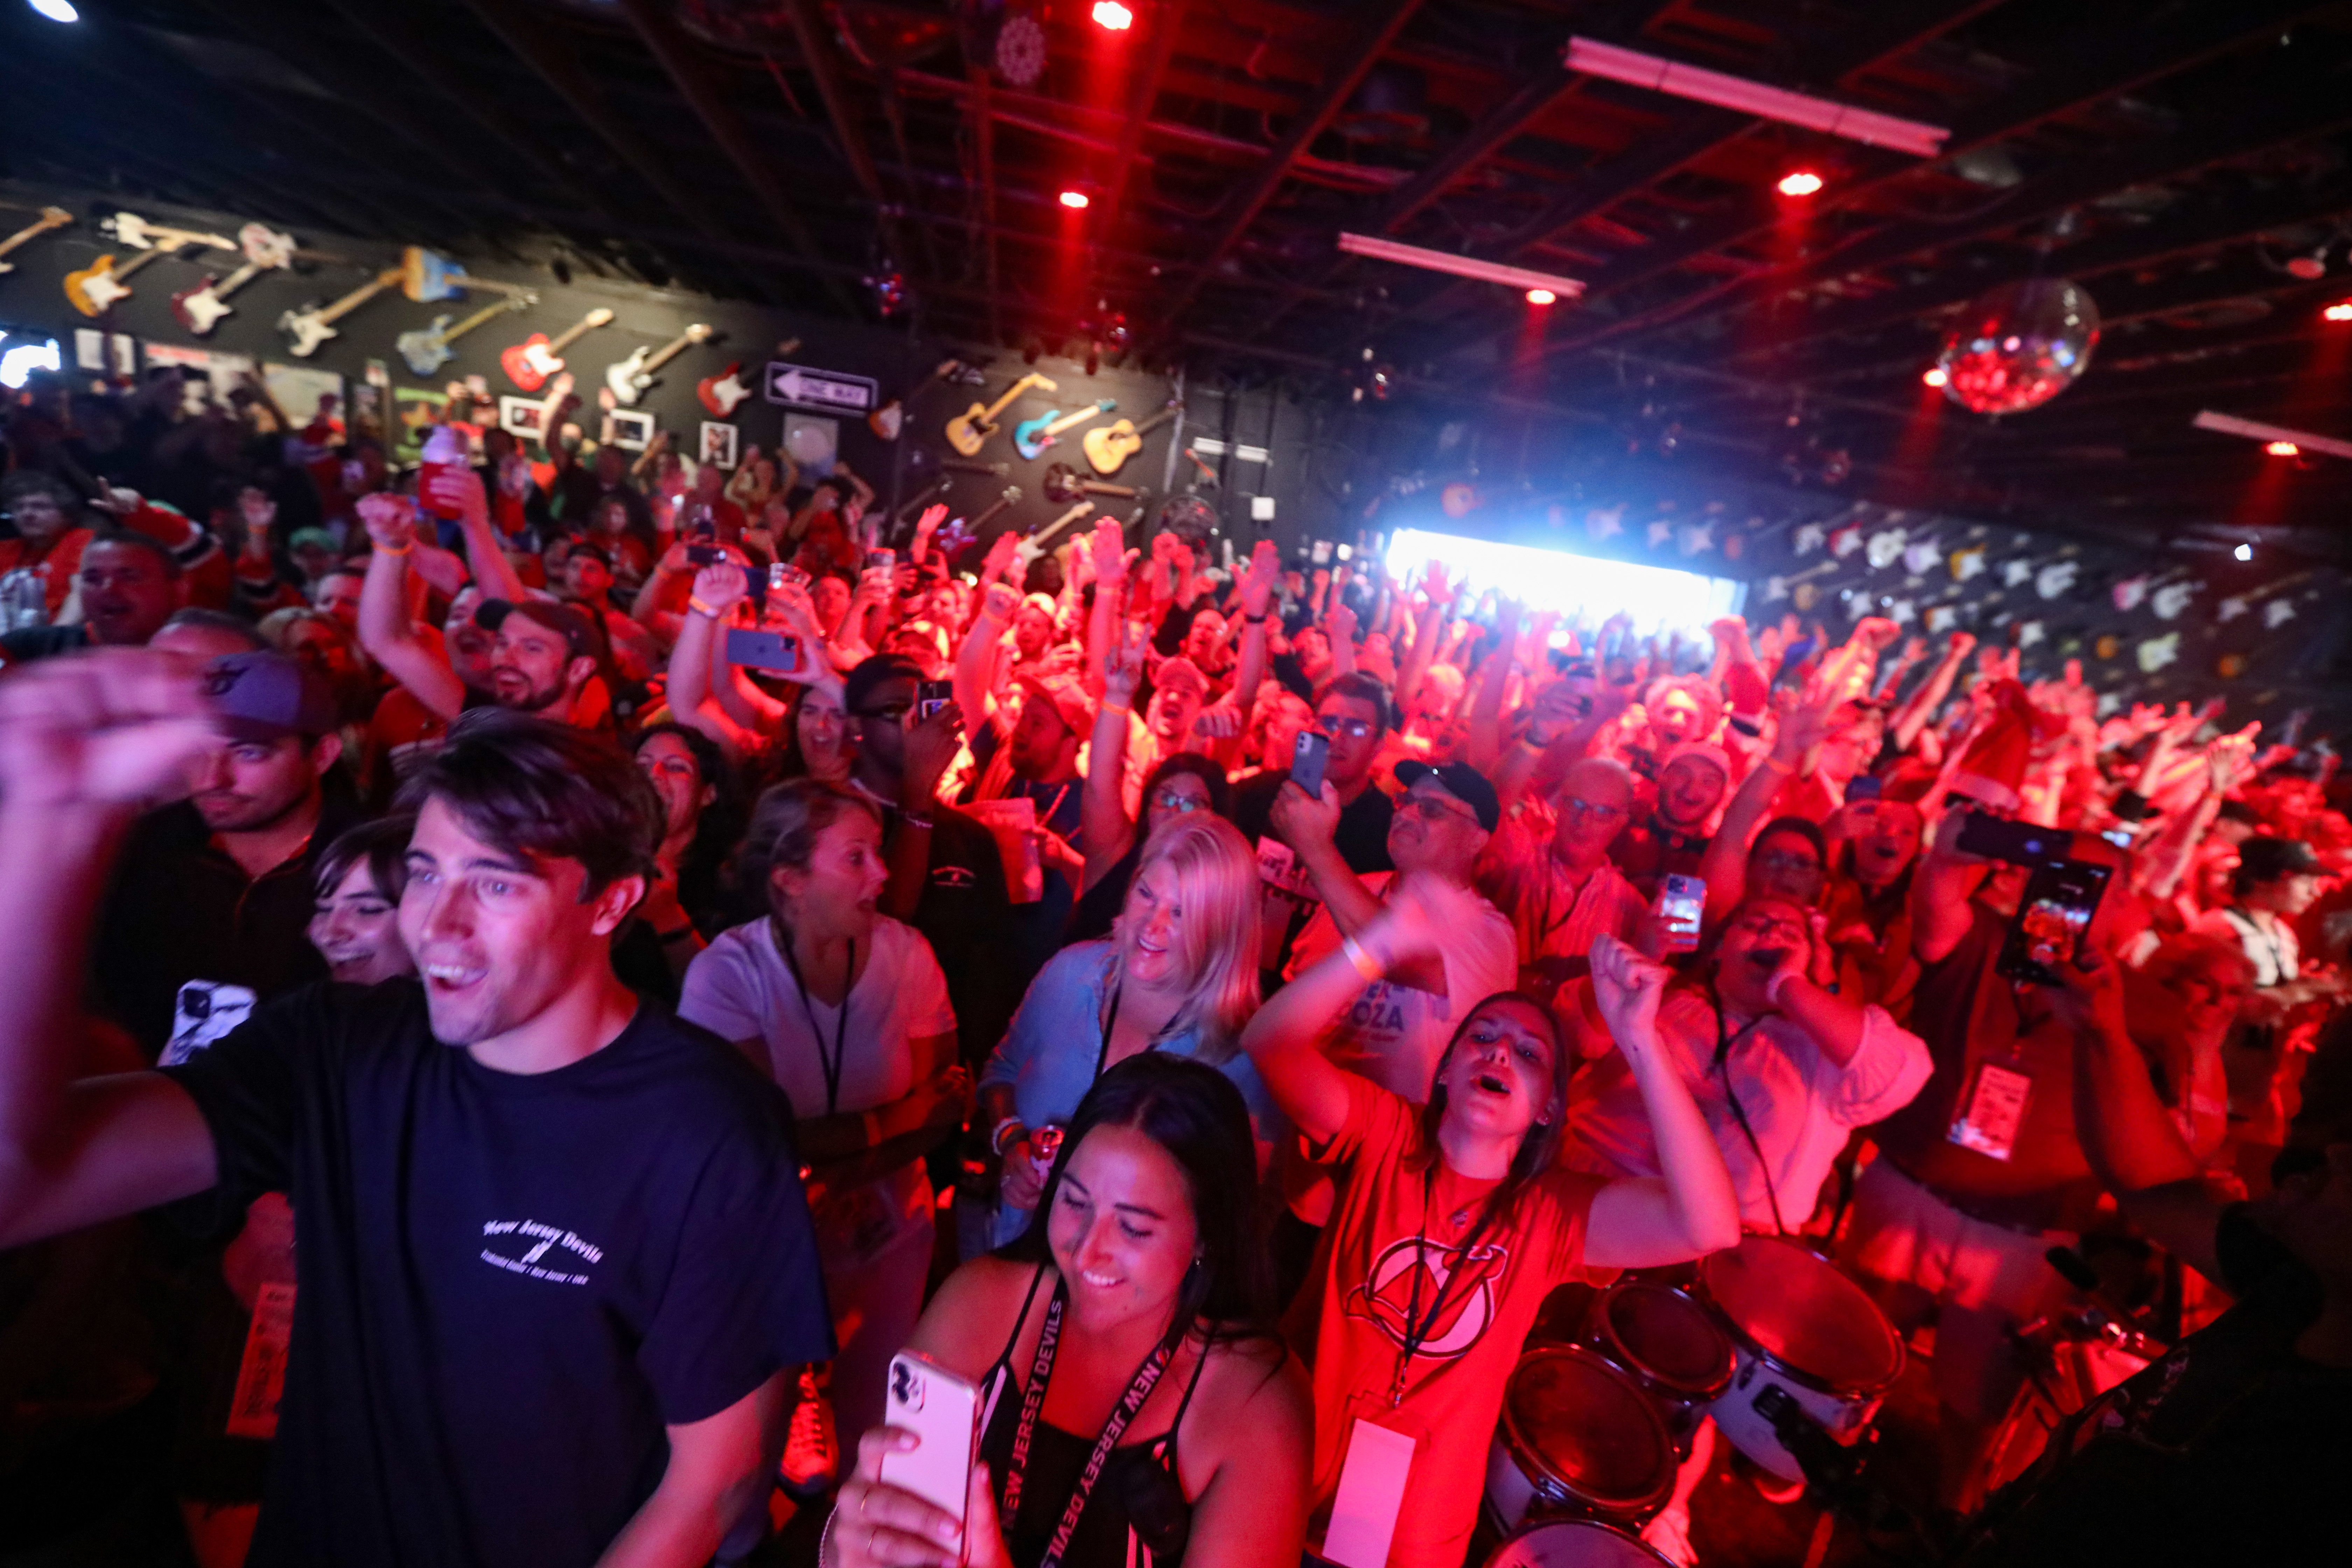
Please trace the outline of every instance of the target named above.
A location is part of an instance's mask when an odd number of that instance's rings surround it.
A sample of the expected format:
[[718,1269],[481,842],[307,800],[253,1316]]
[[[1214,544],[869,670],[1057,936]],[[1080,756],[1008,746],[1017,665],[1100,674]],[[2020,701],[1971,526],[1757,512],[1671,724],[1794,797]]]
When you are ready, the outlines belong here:
[[981,1072],[988,1147],[1004,1157],[990,1246],[1030,1220],[1054,1135],[1105,1067],[1145,1051],[1209,1063],[1242,1091],[1261,1166],[1287,1124],[1240,1053],[1258,1011],[1258,863],[1240,827],[1192,811],[1152,830],[1110,938],[1037,971]]

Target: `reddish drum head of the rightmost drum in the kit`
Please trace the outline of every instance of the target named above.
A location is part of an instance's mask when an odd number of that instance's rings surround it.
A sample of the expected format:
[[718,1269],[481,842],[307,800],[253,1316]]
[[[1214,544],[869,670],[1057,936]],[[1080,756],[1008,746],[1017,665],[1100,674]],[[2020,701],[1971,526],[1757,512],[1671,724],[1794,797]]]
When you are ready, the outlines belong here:
[[1865,1394],[1903,1371],[1903,1338],[1877,1302],[1795,1241],[1748,1237],[1710,1253],[1698,1284],[1740,1340],[1813,1387]]

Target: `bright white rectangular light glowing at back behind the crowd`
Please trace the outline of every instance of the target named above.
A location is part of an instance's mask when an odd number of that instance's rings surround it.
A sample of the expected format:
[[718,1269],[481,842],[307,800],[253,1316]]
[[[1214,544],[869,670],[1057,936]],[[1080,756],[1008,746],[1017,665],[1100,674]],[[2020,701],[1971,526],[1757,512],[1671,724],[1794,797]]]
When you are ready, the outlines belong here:
[[[1625,611],[1635,632],[1703,632],[1710,621],[1736,616],[1748,592],[1733,578],[1712,578],[1672,567],[1639,567],[1536,545],[1498,545],[1458,534],[1397,529],[1388,538],[1388,574],[1404,578],[1428,562],[1444,562],[1446,576],[1468,581],[1472,595],[1501,588],[1529,609],[1557,609],[1566,621],[1599,623]],[[1465,604],[1470,599],[1463,599]]]

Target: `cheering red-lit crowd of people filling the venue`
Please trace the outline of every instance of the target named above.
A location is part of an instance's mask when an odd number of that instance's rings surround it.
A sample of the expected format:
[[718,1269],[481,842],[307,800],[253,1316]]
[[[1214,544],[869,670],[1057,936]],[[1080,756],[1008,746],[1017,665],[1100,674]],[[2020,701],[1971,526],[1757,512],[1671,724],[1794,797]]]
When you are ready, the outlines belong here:
[[[2317,1530],[2324,748],[452,430],[9,411],[0,1556],[1456,1568],[1548,1302],[1743,1237],[1931,1347],[1969,1561]],[[2056,1246],[2171,1349],[1992,1493]]]

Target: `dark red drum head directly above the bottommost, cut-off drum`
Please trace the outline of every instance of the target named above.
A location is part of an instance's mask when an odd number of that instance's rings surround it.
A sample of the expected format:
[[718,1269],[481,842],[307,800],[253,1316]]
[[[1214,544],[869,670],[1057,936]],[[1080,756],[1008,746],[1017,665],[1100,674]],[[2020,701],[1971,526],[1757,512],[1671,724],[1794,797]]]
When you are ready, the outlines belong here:
[[1503,1389],[1503,1441],[1538,1490],[1639,1514],[1675,1488],[1675,1443],[1632,1378],[1581,1345],[1531,1349]]

